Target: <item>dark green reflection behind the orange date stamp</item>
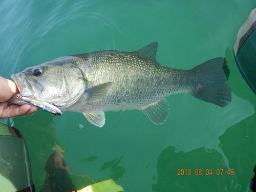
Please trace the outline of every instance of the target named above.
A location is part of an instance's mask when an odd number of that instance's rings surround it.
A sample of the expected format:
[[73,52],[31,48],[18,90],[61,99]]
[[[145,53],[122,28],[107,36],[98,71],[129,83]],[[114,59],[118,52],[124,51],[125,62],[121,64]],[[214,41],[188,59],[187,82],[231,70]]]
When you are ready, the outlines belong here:
[[158,157],[157,175],[157,183],[152,185],[156,192],[240,191],[236,174],[222,155],[205,147],[175,153],[175,147],[168,146]]

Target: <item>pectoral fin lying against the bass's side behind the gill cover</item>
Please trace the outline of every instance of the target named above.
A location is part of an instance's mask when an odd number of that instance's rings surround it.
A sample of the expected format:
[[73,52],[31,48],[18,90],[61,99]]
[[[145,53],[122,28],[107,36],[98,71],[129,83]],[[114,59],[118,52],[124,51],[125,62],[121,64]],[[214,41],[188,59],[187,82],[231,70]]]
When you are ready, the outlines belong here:
[[98,86],[94,86],[86,90],[84,93],[87,95],[87,101],[98,101],[106,96],[109,92],[110,88],[112,87],[112,82],[106,82],[102,84],[98,84]]

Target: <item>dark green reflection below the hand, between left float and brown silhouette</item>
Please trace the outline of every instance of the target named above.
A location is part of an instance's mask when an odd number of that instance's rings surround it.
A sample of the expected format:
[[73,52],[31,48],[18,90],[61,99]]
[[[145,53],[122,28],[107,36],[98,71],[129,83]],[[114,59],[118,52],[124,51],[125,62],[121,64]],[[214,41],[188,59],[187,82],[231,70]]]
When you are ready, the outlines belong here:
[[14,126],[25,138],[36,191],[40,191],[45,179],[44,167],[54,152],[63,153],[52,126],[54,116],[38,111],[30,116],[15,117]]

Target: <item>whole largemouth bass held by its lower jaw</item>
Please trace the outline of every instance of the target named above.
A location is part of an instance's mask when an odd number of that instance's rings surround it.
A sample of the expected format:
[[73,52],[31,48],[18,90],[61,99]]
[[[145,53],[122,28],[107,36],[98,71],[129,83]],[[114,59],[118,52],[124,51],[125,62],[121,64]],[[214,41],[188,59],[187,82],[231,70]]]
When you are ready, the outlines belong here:
[[104,112],[135,109],[162,124],[170,112],[165,97],[172,94],[189,93],[219,106],[231,101],[224,58],[191,70],[172,69],[156,61],[157,47],[154,42],[134,52],[62,57],[11,77],[23,96],[53,103],[61,111],[83,113],[99,127],[105,123]]

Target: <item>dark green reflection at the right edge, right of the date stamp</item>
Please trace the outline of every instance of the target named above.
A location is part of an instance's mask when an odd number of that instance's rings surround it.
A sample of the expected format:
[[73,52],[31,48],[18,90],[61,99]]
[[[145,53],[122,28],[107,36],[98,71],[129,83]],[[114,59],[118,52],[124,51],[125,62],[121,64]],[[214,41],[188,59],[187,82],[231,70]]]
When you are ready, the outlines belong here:
[[[256,165],[256,114],[229,127],[219,137],[220,147],[228,159],[229,167],[236,170],[241,190],[246,191]],[[254,126],[252,126],[254,124]]]

